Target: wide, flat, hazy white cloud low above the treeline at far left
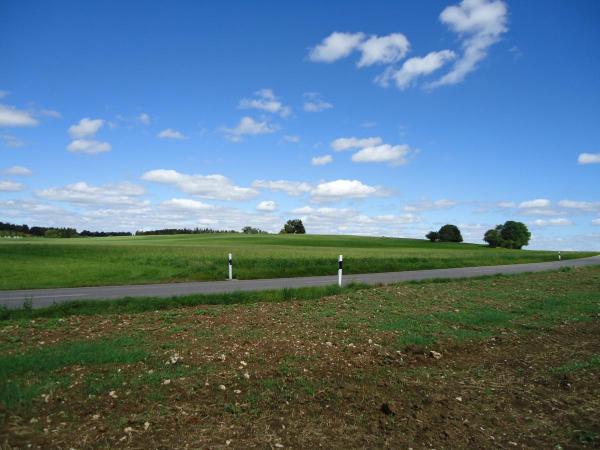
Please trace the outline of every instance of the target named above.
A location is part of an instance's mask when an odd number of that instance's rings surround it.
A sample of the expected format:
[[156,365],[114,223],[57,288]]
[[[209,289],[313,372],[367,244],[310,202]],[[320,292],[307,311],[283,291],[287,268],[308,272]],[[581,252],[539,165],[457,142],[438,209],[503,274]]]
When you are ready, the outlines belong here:
[[139,206],[146,204],[139,197],[145,193],[142,186],[123,182],[104,186],[91,186],[84,181],[36,191],[36,195],[46,200],[61,201],[81,205]]

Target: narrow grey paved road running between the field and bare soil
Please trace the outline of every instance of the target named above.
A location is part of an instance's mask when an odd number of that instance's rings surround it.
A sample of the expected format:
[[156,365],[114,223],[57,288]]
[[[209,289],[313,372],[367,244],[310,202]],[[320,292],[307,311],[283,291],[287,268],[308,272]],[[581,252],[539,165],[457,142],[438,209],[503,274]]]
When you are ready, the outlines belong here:
[[[600,265],[600,255],[591,258],[544,263],[345,275],[344,284],[352,281],[367,284],[390,284],[401,281],[427,280],[434,278],[469,278],[482,275],[542,272],[545,270],[560,269],[561,267],[592,265]],[[24,302],[31,300],[34,308],[43,308],[54,303],[64,303],[73,300],[101,301],[123,297],[173,297],[176,295],[325,286],[336,283],[337,275],[332,275],[323,277],[273,278],[263,280],[200,281],[192,283],[142,284],[128,286],[29,289],[0,291],[0,305],[7,308],[20,308],[23,306]]]

